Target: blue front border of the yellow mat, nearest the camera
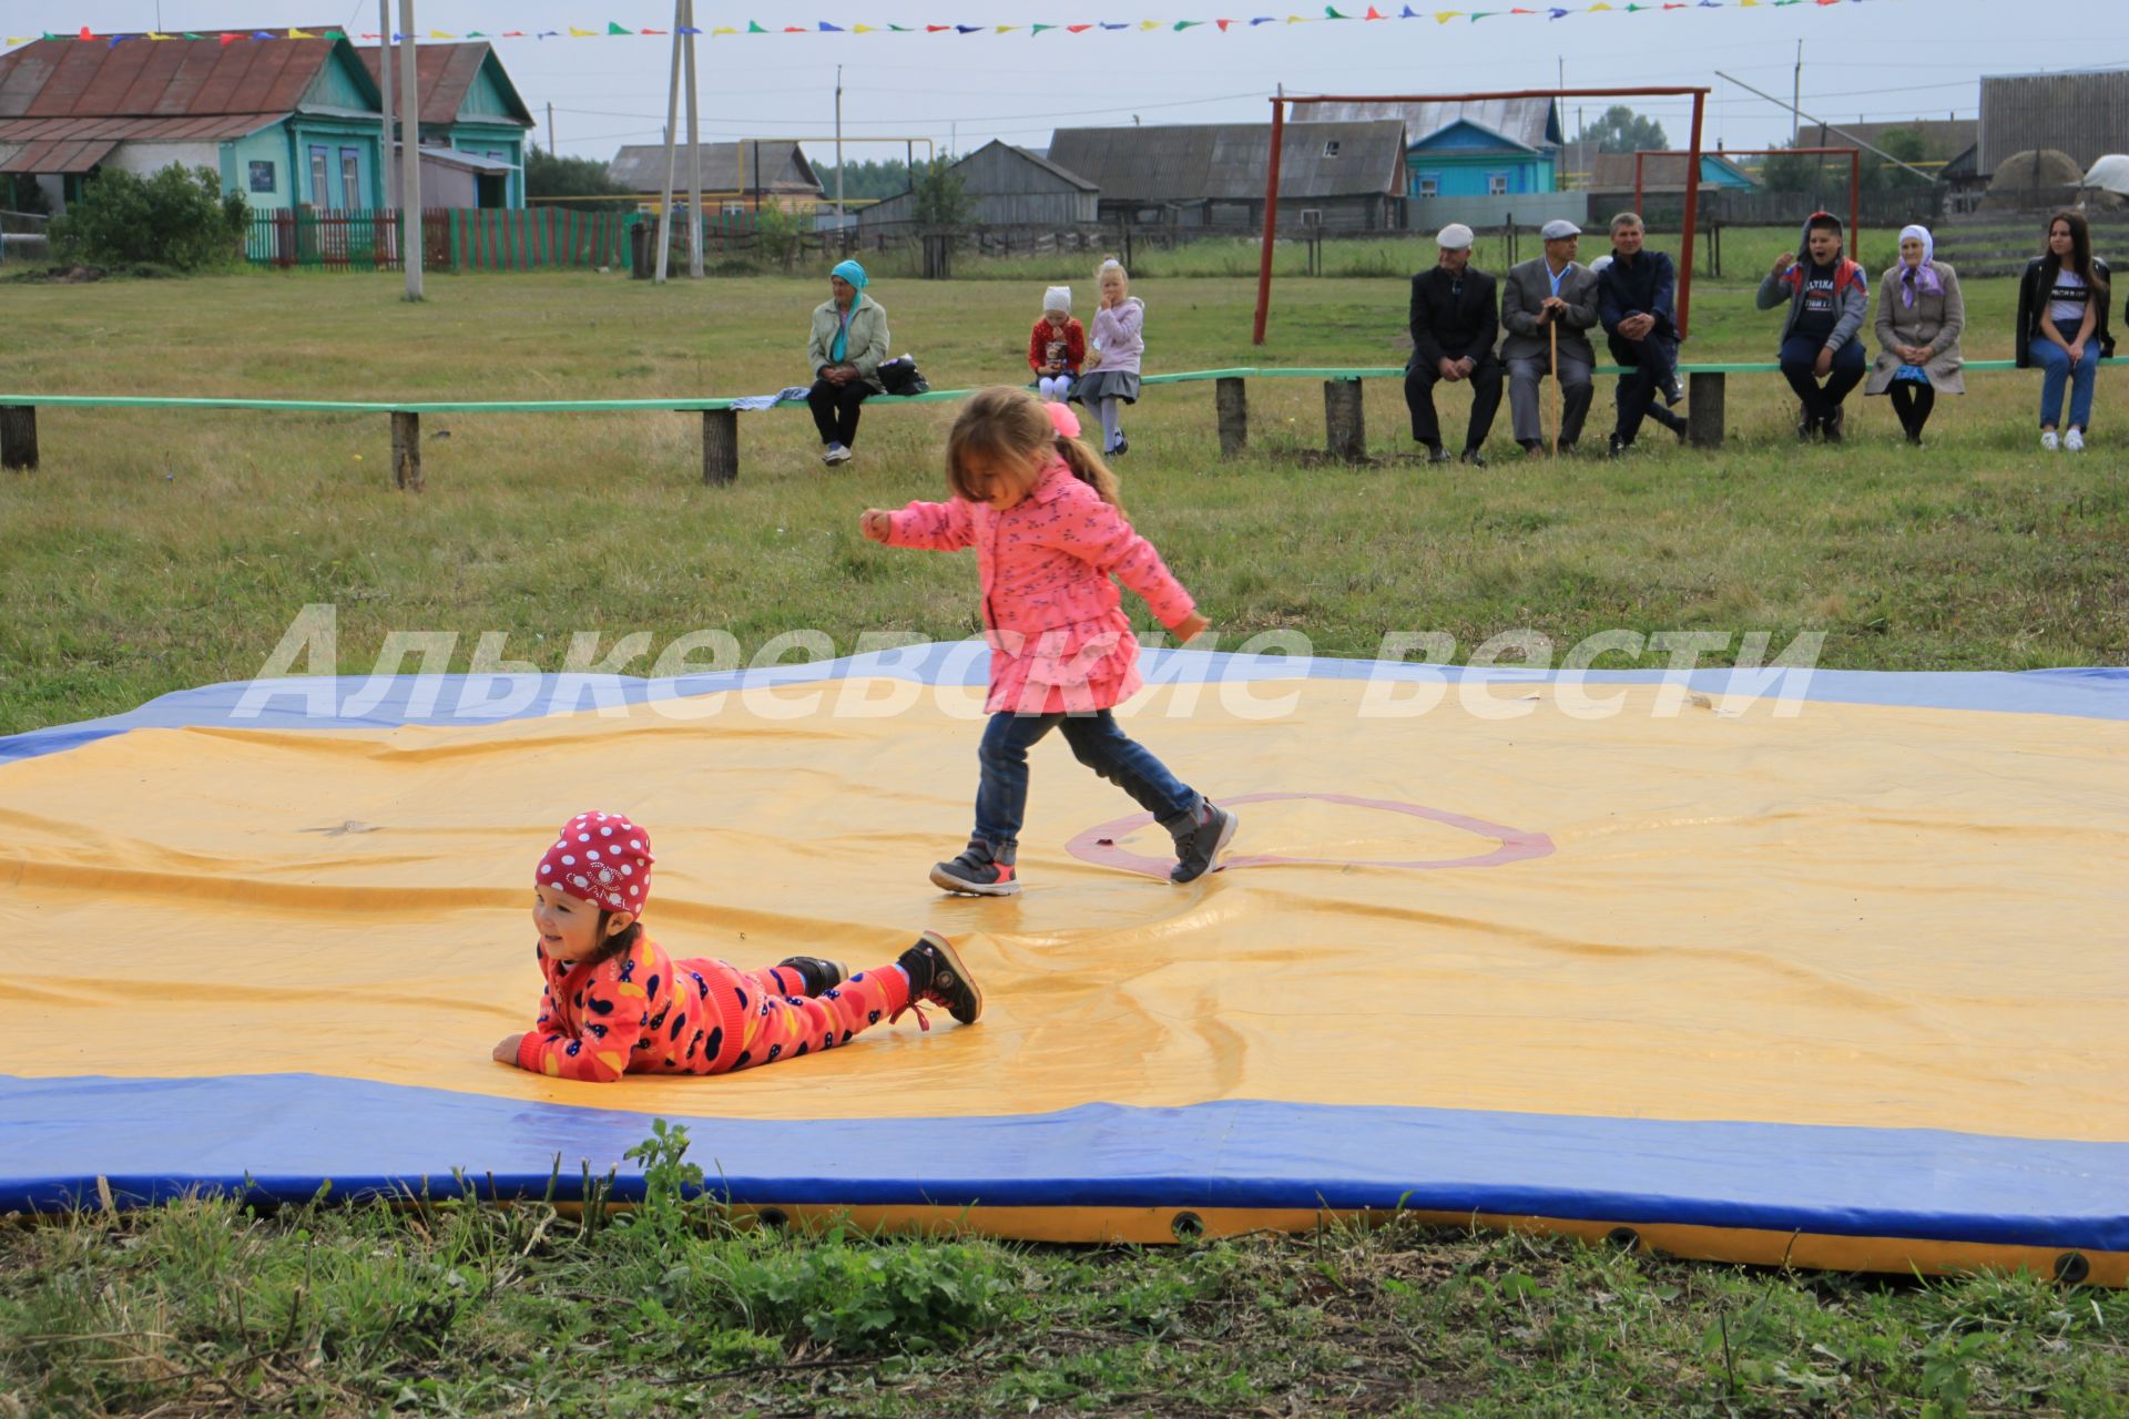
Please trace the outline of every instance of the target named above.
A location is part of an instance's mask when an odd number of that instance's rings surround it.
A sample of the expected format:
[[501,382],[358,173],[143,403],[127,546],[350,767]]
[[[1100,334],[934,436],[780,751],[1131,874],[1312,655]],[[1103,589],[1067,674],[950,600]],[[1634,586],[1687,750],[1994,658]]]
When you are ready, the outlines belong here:
[[[500,1068],[500,1066],[498,1066]],[[705,1104],[720,1083],[705,1081]],[[2129,1249],[2129,1142],[1220,1100],[943,1119],[673,1117],[713,1189],[756,1204],[1414,1208],[1948,1242]],[[249,1189],[307,1200],[558,1198],[651,1115],[324,1074],[0,1074],[0,1211]],[[32,1162],[34,1159],[34,1162]],[[183,1159],[183,1162],[177,1162]]]

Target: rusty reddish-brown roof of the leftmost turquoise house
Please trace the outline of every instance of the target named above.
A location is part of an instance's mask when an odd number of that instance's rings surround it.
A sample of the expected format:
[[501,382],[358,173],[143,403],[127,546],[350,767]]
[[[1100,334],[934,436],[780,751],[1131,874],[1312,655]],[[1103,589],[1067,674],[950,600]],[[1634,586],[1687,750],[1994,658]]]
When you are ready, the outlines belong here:
[[294,113],[345,43],[36,40],[0,55],[0,119]]

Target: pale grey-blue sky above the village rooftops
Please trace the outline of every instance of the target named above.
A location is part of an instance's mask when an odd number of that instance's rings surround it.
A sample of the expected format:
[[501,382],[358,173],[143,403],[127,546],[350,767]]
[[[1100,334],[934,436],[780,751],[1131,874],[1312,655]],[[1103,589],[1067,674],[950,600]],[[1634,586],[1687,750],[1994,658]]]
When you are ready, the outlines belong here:
[[[1382,2],[1394,15],[1403,0]],[[1429,6],[1456,0],[1426,0]],[[1465,0],[1469,2],[1469,0]],[[1544,0],[1484,4],[1544,6]],[[1567,0],[1563,0],[1567,2]],[[1586,0],[1580,0],[1586,2]],[[1624,4],[1624,0],[1614,0]],[[1226,9],[1222,9],[1226,6]],[[1367,0],[1339,2],[1348,15]],[[1420,9],[1414,4],[1414,9]],[[392,0],[398,15],[398,0]],[[1054,128],[1096,123],[1265,121],[1277,85],[1290,94],[1424,94],[1569,85],[1712,85],[1705,143],[1784,143],[1788,115],[1742,85],[1788,96],[1799,40],[1803,111],[1833,123],[1976,117],[1980,74],[2129,68],[2125,0],[1852,0],[1773,9],[1680,9],[1471,23],[1284,23],[1320,15],[1294,0],[818,0],[813,6],[696,0],[696,26],[769,28],[924,23],[1133,21],[1128,30],[1016,34],[762,34],[698,40],[703,138],[820,136],[807,153],[832,160],[837,66],[852,162],[901,157],[905,138],[973,151],[990,138],[1045,147]],[[1239,23],[1145,32],[1141,19],[1277,15]],[[673,0],[417,0],[415,28],[632,30],[673,26]],[[339,23],[377,32],[377,0],[0,0],[0,38],[21,30],[232,30]],[[2074,36],[2074,38],[2072,38]],[[360,43],[360,40],[358,40]],[[541,119],[554,104],[554,147],[613,157],[628,143],[658,143],[664,128],[671,40],[500,40],[519,94]],[[1731,83],[1720,74],[1729,74]],[[1567,136],[1614,100],[1563,100]],[[1686,138],[1690,100],[1627,100]],[[890,138],[890,143],[858,143]],[[2123,136],[2129,147],[2129,134]],[[918,155],[924,153],[918,145]]]

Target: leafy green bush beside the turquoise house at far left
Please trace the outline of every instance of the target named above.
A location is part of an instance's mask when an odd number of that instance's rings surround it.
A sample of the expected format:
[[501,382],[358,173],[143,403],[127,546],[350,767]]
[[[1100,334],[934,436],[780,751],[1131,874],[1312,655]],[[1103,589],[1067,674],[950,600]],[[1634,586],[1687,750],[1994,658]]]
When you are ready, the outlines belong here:
[[62,262],[202,270],[236,262],[249,223],[245,196],[224,194],[213,168],[106,168],[51,219],[51,249]]

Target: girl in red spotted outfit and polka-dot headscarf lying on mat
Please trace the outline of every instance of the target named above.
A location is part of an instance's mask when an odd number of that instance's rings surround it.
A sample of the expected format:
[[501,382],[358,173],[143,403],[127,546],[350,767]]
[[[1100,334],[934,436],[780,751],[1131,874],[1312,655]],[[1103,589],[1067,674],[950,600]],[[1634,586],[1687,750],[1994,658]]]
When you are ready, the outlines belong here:
[[766,970],[717,959],[675,962],[643,934],[651,836],[620,813],[579,813],[532,874],[539,930],[539,1023],[494,1057],[551,1079],[611,1083],[622,1074],[726,1074],[796,1059],[935,1004],[964,1025],[984,991],[943,936],[924,932],[892,966],[849,974],[841,962],[794,955]]

